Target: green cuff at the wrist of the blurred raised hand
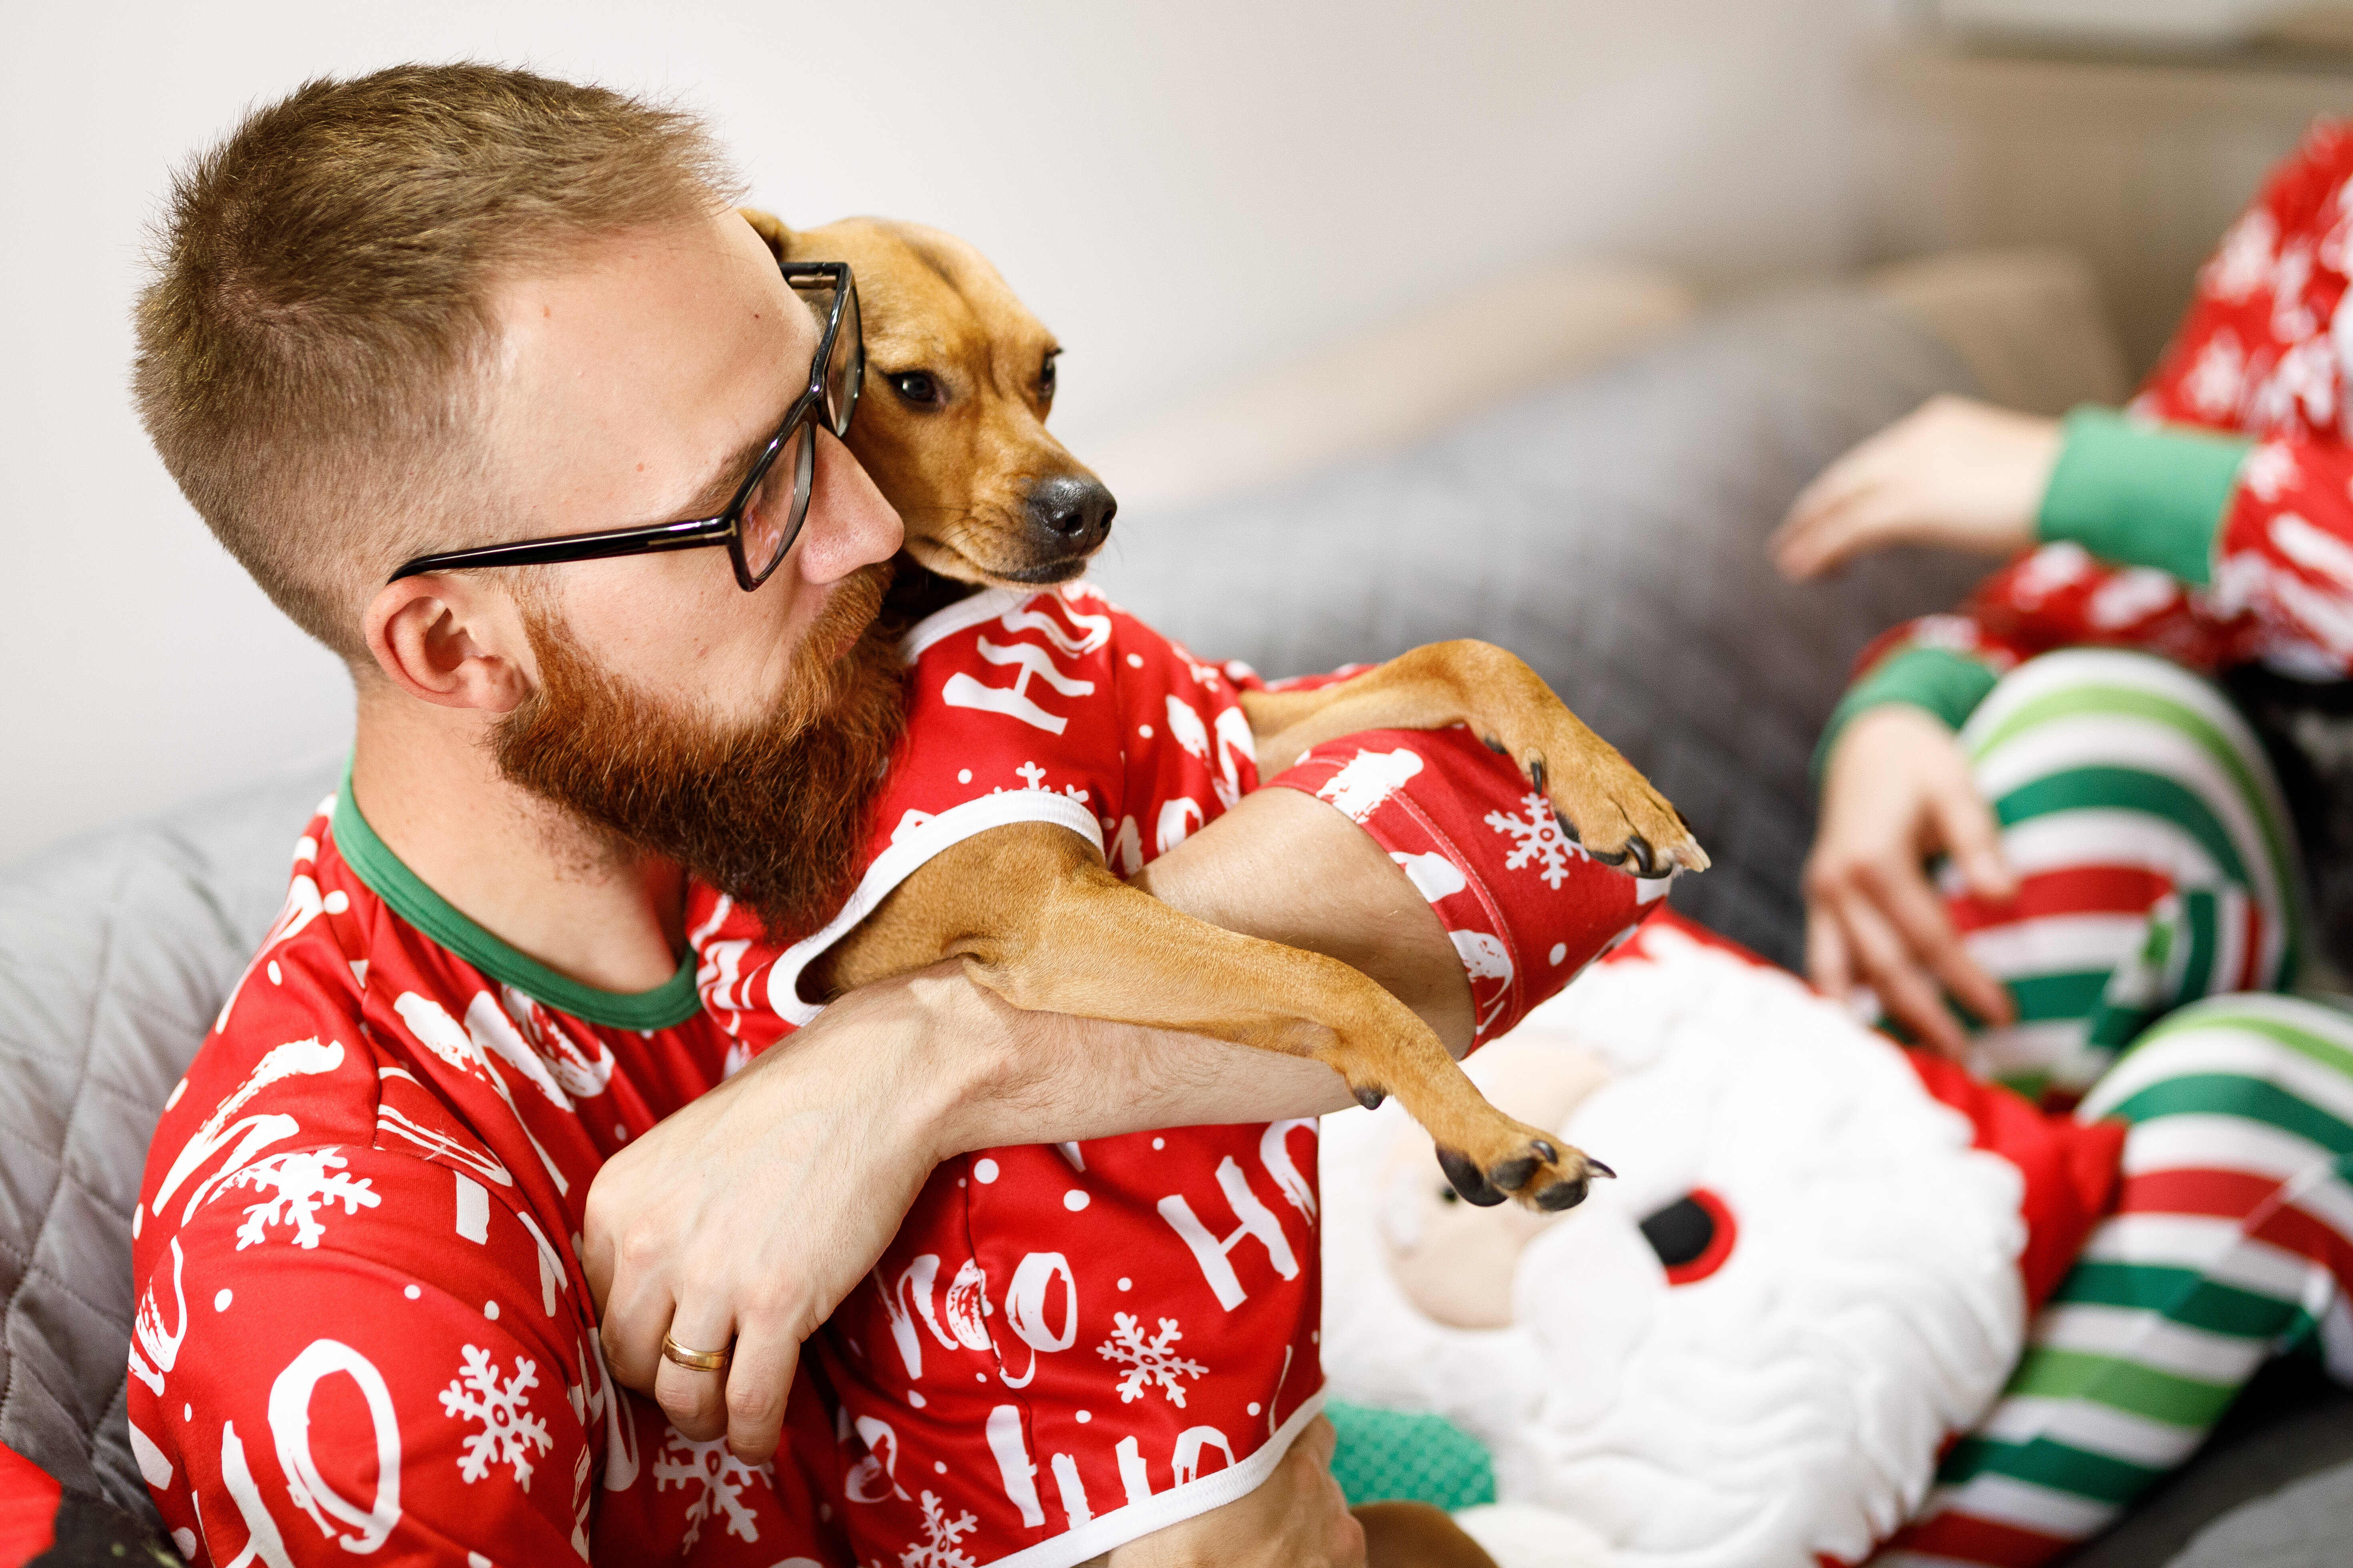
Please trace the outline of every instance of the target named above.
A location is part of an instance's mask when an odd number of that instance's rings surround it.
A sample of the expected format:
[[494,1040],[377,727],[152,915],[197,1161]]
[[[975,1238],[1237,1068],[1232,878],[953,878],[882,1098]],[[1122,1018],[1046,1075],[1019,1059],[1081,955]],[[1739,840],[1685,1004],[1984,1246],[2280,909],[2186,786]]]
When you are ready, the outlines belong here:
[[2238,468],[2254,444],[2186,425],[2144,425],[2115,409],[2080,407],[2061,425],[2059,465],[2035,531],[2092,555],[2205,588],[2214,534],[2231,510]]

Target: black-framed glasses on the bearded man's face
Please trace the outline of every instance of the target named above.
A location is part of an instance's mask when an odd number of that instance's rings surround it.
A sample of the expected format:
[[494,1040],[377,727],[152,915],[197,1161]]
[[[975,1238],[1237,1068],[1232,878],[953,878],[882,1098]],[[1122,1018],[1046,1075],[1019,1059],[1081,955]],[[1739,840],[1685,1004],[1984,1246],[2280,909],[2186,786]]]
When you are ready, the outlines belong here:
[[784,280],[795,289],[831,289],[833,303],[826,308],[826,331],[816,339],[816,357],[809,360],[809,386],[793,400],[776,435],[753,461],[734,501],[718,517],[687,517],[685,522],[654,522],[635,529],[605,529],[600,534],[562,534],[558,538],[518,538],[511,545],[482,545],[478,550],[449,550],[445,555],[419,555],[388,581],[426,571],[461,571],[473,567],[555,567],[562,562],[593,562],[614,555],[654,555],[656,550],[699,550],[727,545],[734,562],[736,583],[751,592],[776,571],[786,550],[800,538],[800,524],[809,517],[809,484],[816,477],[816,433],[809,428],[814,414],[824,411],[835,437],[849,435],[849,418],[859,411],[859,388],[866,381],[866,336],[859,327],[859,284],[849,277],[847,261],[779,261]]

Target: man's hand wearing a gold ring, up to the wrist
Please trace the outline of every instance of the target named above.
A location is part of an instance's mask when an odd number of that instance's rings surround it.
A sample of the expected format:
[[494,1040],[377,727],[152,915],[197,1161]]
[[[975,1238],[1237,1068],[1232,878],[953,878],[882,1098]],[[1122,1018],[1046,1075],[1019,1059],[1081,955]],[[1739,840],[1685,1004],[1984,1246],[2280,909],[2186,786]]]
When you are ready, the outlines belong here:
[[[800,1342],[955,1152],[955,1100],[1000,1058],[998,1013],[953,966],[868,985],[607,1159],[581,1267],[612,1375],[689,1439],[725,1432],[736,1458],[767,1460]],[[664,1333],[734,1359],[678,1366]]]

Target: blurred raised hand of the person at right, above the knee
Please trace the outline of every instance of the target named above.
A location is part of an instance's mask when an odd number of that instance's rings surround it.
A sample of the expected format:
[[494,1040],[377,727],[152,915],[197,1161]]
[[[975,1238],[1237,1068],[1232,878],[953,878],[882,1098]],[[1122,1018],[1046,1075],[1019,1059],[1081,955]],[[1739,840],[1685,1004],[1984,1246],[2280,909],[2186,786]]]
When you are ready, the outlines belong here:
[[2059,421],[1932,397],[1824,468],[1765,548],[1793,583],[1885,545],[2017,555],[2057,463]]

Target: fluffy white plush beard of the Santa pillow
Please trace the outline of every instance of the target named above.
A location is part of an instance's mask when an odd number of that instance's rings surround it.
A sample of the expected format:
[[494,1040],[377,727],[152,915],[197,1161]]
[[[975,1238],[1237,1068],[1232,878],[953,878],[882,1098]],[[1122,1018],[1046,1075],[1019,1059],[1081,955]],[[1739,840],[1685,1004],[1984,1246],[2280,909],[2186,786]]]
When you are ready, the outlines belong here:
[[[1882,1037],[1678,931],[1645,931],[1513,1039],[1609,1063],[1560,1131],[1621,1180],[1527,1244],[1508,1328],[1449,1328],[1405,1298],[1381,1239],[1426,1201],[1381,1180],[1398,1112],[1325,1119],[1332,1394],[1452,1418],[1506,1505],[1600,1537],[1548,1556],[1489,1540],[1504,1568],[1868,1556],[2019,1356],[2017,1168],[1972,1150]],[[1694,1187],[1739,1241],[1668,1286],[1638,1222]]]

